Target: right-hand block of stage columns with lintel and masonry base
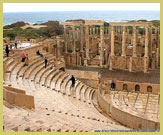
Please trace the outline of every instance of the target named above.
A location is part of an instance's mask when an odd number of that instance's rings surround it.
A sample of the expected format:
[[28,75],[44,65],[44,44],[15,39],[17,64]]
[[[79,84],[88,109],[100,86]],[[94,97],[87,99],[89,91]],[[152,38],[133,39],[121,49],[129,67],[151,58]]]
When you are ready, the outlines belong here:
[[[123,26],[123,35],[122,35],[122,54],[121,56],[115,56],[111,57],[110,59],[110,70],[112,68],[116,69],[123,69],[123,70],[129,70],[130,72],[132,71],[144,71],[145,73],[148,72],[149,69],[149,58],[151,57],[152,53],[152,38],[149,39],[149,37],[152,37],[152,32],[149,33],[149,29],[151,30],[152,24],[151,23],[144,23],[144,22],[137,22],[137,23],[110,23],[111,27],[114,26]],[[126,30],[125,27],[132,26],[133,27],[133,45],[132,45],[132,57],[123,57],[128,54],[126,54]],[[138,51],[138,32],[137,32],[137,27],[145,27],[145,42],[144,44],[144,57],[140,57],[140,52]],[[111,56],[113,56],[113,50],[114,50],[114,34],[112,30],[111,34]],[[150,43],[150,44],[149,44]],[[139,47],[140,48],[140,47]],[[149,51],[150,50],[150,51]],[[139,57],[138,57],[139,56]],[[120,60],[121,59],[121,60]],[[113,63],[114,62],[114,63]],[[120,63],[119,63],[120,62]],[[129,62],[129,63],[128,63]],[[117,65],[117,63],[119,63]],[[144,64],[143,64],[144,63]],[[129,64],[129,65],[128,65]],[[142,66],[142,64],[144,66]]]

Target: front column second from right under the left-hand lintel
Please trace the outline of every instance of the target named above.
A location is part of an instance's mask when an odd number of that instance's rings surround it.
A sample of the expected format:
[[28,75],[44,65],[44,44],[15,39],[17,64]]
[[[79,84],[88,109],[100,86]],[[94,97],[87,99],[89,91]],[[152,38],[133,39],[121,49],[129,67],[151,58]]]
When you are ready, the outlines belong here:
[[89,59],[89,25],[86,25],[85,39],[86,39],[86,58]]

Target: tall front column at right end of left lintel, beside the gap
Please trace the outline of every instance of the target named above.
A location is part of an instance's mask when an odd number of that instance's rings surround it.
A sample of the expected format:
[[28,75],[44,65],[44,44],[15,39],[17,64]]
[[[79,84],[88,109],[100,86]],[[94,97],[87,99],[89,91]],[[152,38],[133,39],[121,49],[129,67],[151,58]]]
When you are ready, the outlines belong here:
[[100,66],[104,65],[104,26],[100,26]]

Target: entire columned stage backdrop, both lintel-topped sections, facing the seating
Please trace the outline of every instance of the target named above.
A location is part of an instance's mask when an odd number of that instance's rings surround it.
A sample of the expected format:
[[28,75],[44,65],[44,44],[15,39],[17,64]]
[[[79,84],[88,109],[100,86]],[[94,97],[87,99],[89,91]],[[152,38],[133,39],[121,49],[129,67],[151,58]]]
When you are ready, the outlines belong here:
[[[110,70],[122,69],[130,72],[148,72],[149,68],[153,69],[159,65],[159,50],[154,48],[154,44],[157,44],[156,48],[159,46],[159,29],[155,29],[155,36],[153,36],[153,26],[149,22],[110,22],[109,27],[105,27],[104,22],[100,20],[72,21],[62,24],[64,29],[67,26],[72,27],[73,54],[69,53],[69,55],[75,57],[73,63],[79,61],[77,65],[85,63],[85,66],[96,65],[109,67]],[[80,27],[80,55],[76,54],[77,39],[74,34],[76,26]],[[139,33],[139,29],[143,30],[143,34]],[[64,30],[65,48],[70,46],[66,42],[66,34]],[[156,43],[153,42],[154,39]],[[71,65],[71,63],[67,64]]]

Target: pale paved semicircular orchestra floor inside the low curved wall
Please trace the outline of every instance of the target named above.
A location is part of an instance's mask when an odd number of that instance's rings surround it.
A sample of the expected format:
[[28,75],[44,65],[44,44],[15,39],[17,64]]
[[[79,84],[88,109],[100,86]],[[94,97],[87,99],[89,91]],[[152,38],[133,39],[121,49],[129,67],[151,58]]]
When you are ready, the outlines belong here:
[[158,94],[112,91],[112,102],[118,108],[126,108],[131,114],[142,116],[146,119],[159,121],[160,97]]

